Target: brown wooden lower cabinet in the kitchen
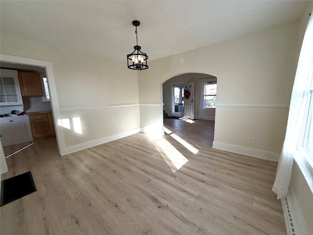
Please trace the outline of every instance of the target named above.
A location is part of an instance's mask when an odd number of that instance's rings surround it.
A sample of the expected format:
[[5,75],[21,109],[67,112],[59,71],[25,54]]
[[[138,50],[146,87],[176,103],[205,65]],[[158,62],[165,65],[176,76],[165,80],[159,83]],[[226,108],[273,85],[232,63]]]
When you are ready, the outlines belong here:
[[28,114],[31,132],[34,140],[41,140],[55,136],[51,112]]

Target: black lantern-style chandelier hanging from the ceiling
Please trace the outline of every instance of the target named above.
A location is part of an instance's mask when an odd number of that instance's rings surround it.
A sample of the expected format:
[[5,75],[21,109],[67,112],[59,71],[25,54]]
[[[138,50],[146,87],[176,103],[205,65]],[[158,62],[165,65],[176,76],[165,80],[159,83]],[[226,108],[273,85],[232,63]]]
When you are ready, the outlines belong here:
[[137,26],[140,25],[139,21],[133,21],[133,25],[136,27],[136,42],[137,45],[134,46],[134,51],[131,54],[127,55],[127,67],[131,70],[146,70],[149,68],[147,65],[148,56],[146,53],[143,53],[138,46],[138,37],[137,37]]

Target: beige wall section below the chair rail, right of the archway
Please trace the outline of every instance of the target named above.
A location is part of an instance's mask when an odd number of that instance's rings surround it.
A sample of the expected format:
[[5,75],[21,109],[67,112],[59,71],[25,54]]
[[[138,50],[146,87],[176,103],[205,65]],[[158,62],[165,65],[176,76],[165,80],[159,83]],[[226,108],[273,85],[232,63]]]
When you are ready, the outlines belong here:
[[[223,132],[215,129],[214,141],[279,153],[287,116],[285,108],[217,108],[215,123],[223,124]],[[228,135],[227,130],[232,133]],[[254,138],[253,145],[248,143],[249,137]]]

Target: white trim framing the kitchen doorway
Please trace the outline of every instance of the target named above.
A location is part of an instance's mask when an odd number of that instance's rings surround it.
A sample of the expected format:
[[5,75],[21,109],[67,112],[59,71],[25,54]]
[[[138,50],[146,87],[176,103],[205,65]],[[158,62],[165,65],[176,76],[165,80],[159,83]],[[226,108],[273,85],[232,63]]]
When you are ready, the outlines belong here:
[[45,68],[45,73],[46,73],[48,86],[49,86],[49,92],[50,92],[50,102],[51,102],[53,123],[55,127],[55,134],[56,134],[57,145],[58,145],[58,152],[60,156],[66,155],[67,152],[66,152],[63,128],[62,126],[57,125],[57,120],[61,120],[61,113],[60,113],[57,89],[55,86],[52,63],[49,61],[44,61],[44,60],[35,60],[35,59],[24,58],[24,57],[13,56],[13,55],[5,55],[5,54],[0,54],[0,62],[6,62],[6,63],[11,63],[11,64],[32,65],[32,66]]

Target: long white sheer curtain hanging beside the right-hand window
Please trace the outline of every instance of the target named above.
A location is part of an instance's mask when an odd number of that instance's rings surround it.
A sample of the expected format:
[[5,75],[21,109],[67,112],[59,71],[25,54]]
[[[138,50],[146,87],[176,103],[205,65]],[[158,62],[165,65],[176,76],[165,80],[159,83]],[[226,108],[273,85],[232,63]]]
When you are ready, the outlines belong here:
[[309,90],[311,87],[312,66],[313,16],[311,15],[301,47],[298,67],[292,88],[285,141],[272,188],[277,194],[277,199],[285,198],[288,193],[293,156],[299,142],[303,122],[306,119],[306,100],[309,96]]

